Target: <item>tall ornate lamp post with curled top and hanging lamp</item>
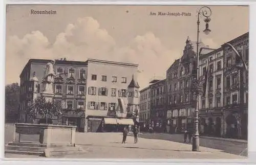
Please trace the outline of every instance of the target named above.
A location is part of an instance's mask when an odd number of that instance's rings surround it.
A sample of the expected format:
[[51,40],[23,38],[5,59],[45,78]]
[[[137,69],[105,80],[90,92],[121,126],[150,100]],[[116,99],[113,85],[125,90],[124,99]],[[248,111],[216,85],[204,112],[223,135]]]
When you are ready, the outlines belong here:
[[204,21],[206,22],[205,30],[203,31],[206,35],[210,33],[209,30],[209,21],[210,21],[211,10],[209,7],[203,6],[198,11],[197,16],[197,86],[196,86],[196,109],[195,109],[195,120],[194,120],[194,136],[193,136],[193,144],[192,144],[192,151],[199,151],[199,95],[202,92],[202,86],[199,83],[199,54],[198,54],[198,47],[199,47],[199,25],[200,19],[199,16],[204,16]]

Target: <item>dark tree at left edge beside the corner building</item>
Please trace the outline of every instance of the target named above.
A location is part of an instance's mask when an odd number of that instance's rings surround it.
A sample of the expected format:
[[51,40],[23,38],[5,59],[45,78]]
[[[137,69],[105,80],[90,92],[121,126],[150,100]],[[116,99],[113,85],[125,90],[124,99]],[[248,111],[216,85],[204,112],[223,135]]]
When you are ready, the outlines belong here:
[[5,120],[17,122],[19,111],[19,90],[18,83],[5,86]]

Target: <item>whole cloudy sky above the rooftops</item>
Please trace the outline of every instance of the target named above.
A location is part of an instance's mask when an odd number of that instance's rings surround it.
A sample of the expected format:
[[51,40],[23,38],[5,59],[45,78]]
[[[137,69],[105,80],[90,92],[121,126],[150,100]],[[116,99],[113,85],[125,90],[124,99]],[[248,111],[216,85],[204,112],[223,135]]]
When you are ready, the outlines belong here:
[[[187,36],[197,39],[201,6],[9,5],[6,14],[6,84],[18,82],[29,59],[86,61],[88,58],[139,64],[142,88],[165,78],[166,69],[182,56]],[[209,6],[211,33],[200,40],[217,49],[249,31],[249,7]],[[31,14],[52,10],[56,14]],[[151,15],[155,12],[156,15]],[[190,13],[163,16],[158,12]]]

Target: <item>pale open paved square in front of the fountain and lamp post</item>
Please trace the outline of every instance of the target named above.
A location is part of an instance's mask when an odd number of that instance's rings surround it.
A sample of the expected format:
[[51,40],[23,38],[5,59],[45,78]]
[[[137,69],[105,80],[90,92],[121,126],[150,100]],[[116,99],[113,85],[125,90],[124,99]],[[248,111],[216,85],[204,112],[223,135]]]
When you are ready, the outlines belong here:
[[[11,127],[6,134],[6,143],[12,140]],[[127,143],[121,144],[121,133],[77,133],[76,144],[86,153],[65,155],[65,158],[246,158],[223,150],[201,147],[201,152],[191,152],[191,145],[162,139],[141,138],[134,144],[132,136],[127,136]],[[38,158],[37,156],[6,154],[7,158]],[[62,157],[63,158],[63,157]]]

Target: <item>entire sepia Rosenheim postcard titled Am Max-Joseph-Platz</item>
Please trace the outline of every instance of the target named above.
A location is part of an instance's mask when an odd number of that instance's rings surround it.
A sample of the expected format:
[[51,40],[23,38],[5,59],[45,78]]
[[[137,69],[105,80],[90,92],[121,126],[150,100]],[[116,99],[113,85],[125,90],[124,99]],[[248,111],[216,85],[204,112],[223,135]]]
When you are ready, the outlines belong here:
[[249,6],[7,5],[6,158],[245,159]]

